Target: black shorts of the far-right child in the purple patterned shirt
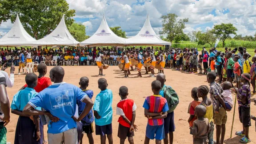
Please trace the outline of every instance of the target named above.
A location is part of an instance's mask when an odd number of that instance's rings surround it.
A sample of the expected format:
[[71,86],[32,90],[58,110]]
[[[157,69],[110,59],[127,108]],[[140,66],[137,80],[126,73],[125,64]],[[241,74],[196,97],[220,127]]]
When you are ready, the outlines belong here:
[[252,125],[250,111],[251,111],[250,108],[246,108],[243,106],[238,107],[239,120],[244,127],[249,127]]

